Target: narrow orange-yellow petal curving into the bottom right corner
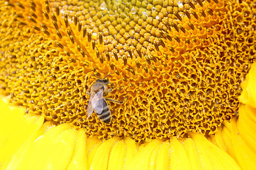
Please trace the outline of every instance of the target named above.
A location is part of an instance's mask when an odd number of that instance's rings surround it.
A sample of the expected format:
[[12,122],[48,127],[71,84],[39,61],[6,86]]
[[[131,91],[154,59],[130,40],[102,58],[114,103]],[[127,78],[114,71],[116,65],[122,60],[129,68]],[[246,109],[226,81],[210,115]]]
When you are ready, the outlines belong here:
[[[256,154],[242,138],[237,129],[237,117],[232,118],[232,141],[237,161],[243,169],[254,169],[256,167]],[[255,147],[255,146],[253,146]]]

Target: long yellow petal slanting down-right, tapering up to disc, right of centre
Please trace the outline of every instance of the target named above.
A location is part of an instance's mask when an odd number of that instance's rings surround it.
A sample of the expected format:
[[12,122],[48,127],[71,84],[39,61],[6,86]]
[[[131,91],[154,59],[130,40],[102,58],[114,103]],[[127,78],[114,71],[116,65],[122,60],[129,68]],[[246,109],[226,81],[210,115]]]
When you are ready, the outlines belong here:
[[240,169],[232,157],[213,145],[213,143],[210,143],[203,135],[193,133],[191,137],[196,143],[204,169]]

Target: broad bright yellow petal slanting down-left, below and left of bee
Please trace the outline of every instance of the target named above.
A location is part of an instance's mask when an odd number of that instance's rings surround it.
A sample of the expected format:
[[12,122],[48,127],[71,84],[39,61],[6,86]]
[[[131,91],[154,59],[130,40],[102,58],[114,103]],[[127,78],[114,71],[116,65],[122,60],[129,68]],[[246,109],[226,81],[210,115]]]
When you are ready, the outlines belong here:
[[37,138],[18,165],[18,169],[65,169],[72,157],[77,131],[71,125],[51,128]]

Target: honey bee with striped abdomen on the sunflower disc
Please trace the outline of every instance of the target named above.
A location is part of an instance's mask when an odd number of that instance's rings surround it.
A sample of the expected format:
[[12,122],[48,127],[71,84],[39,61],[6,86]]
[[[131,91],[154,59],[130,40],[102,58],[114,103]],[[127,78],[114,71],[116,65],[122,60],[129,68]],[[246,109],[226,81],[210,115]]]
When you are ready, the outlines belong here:
[[90,87],[90,93],[87,91],[86,94],[90,95],[87,107],[87,116],[90,117],[94,110],[102,122],[109,124],[111,121],[111,113],[107,100],[117,104],[122,104],[123,102],[104,98],[104,96],[108,95],[109,92],[113,91],[113,88],[108,88],[107,86],[109,83],[109,80],[106,79],[107,76],[103,79],[96,76],[98,79],[92,84],[92,87]]

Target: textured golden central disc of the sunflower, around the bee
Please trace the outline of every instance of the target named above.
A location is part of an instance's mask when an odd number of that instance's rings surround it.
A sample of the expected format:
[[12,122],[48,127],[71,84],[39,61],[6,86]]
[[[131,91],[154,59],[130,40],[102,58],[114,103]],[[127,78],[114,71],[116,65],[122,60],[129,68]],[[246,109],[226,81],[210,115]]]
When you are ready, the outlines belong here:
[[[255,61],[253,1],[2,1],[0,91],[101,139],[214,134]],[[88,118],[109,73],[112,120]]]

